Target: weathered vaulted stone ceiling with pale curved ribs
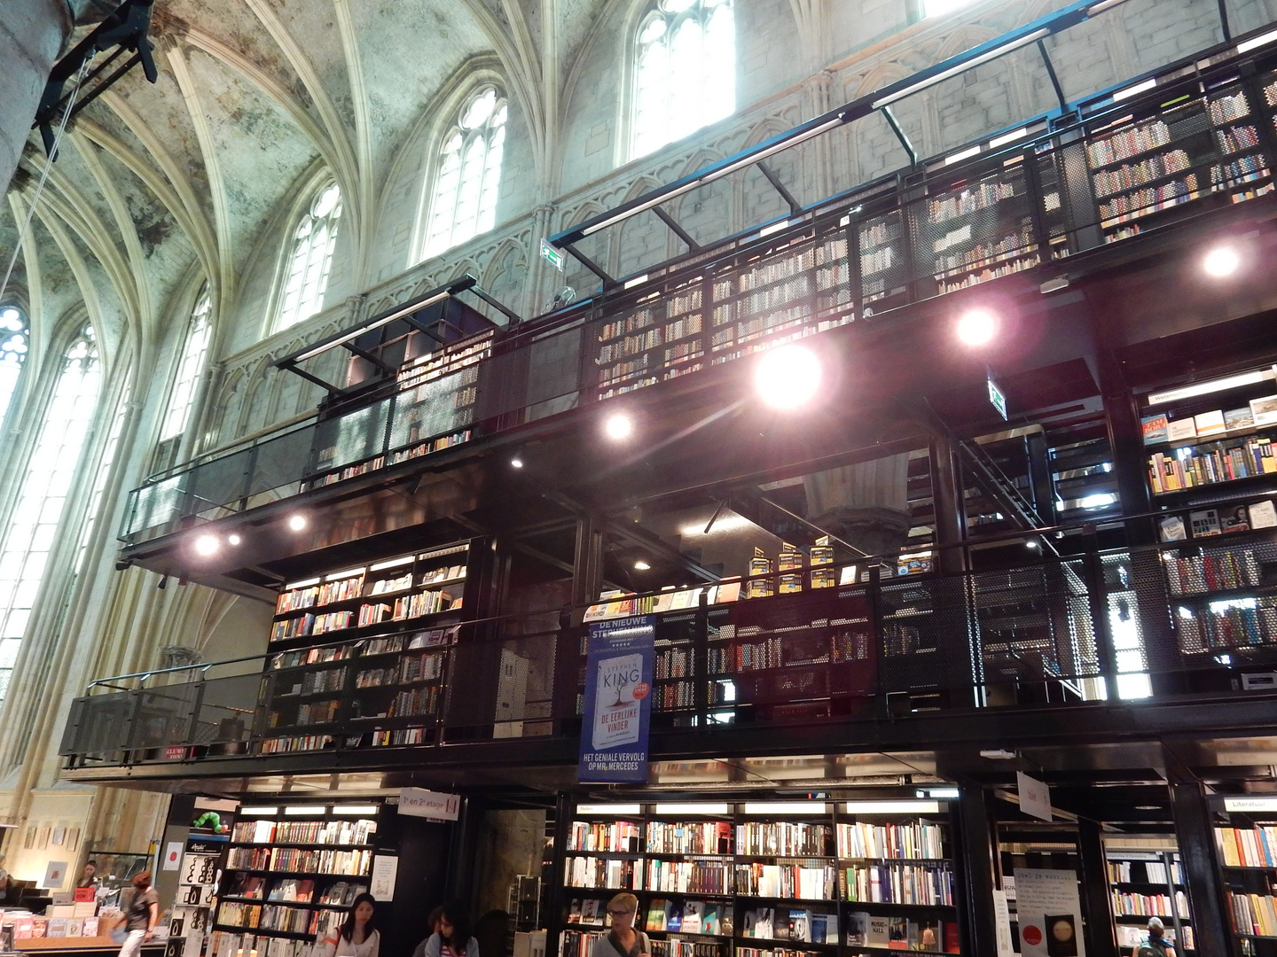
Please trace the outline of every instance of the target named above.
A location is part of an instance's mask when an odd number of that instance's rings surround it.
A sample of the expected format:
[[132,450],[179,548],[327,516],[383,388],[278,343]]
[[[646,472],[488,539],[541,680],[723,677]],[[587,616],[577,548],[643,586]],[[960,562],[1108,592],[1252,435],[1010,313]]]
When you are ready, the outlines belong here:
[[[366,237],[406,138],[483,55],[499,61],[544,171],[554,91],[605,3],[158,0],[158,83],[134,70],[73,122],[10,288],[37,336],[84,302],[105,338],[140,355],[199,277],[234,314],[299,182],[327,166],[349,228]],[[6,260],[45,165],[32,134],[0,209]]]

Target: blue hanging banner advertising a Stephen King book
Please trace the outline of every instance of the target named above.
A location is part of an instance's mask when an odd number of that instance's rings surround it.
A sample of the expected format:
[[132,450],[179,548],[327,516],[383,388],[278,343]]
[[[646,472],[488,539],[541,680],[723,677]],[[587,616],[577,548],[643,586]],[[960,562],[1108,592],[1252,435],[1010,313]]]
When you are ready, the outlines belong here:
[[651,615],[590,625],[578,781],[647,781],[654,649]]

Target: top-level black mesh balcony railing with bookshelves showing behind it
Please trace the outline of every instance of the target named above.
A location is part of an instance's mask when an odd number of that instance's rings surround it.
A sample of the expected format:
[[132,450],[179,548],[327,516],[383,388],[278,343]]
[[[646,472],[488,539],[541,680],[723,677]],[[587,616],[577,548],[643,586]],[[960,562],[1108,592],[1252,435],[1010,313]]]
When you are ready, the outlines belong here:
[[994,138],[978,156],[877,180],[630,288],[457,343],[428,382],[409,376],[375,408],[153,477],[130,494],[121,536],[135,544],[393,468],[1006,274],[1064,282],[1107,244],[1272,189],[1272,57],[1207,51],[1148,93],[1078,105],[1068,126],[1031,124],[1014,143]]

